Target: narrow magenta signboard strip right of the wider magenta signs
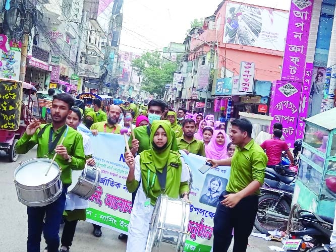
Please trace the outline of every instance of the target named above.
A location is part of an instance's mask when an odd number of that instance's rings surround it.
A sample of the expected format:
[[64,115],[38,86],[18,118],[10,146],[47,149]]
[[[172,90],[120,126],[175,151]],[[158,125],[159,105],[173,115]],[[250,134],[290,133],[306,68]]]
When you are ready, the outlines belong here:
[[311,77],[313,75],[313,63],[306,63],[306,69],[303,78],[301,99],[300,99],[300,107],[299,107],[299,117],[298,117],[298,126],[296,130],[295,139],[303,138],[303,131],[305,129],[304,119],[308,114],[309,107],[309,95],[311,90]]

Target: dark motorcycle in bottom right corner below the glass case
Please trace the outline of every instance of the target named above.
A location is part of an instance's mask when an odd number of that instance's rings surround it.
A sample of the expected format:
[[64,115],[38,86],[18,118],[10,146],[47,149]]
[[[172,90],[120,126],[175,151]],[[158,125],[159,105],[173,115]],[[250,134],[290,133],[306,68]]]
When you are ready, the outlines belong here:
[[287,251],[332,252],[329,243],[333,218],[301,209],[298,211],[297,222],[299,222],[301,228],[291,231],[289,238],[301,239],[301,244],[297,250],[292,249]]

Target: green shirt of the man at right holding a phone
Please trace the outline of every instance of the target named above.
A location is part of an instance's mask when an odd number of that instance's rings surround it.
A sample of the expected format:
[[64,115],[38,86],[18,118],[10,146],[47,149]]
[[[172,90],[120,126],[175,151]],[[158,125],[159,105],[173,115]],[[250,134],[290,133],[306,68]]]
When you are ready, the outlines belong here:
[[[265,152],[253,139],[244,148],[237,146],[231,161],[230,179],[226,190],[230,193],[238,193],[254,180],[262,185],[266,164]],[[256,194],[259,195],[260,190]]]

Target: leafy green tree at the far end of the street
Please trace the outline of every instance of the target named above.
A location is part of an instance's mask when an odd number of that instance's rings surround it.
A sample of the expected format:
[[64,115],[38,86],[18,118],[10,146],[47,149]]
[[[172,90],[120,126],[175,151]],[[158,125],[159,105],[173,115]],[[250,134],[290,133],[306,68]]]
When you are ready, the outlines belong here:
[[165,84],[173,81],[177,70],[175,62],[163,63],[158,51],[146,52],[132,61],[134,71],[143,76],[141,89],[150,94],[161,94]]

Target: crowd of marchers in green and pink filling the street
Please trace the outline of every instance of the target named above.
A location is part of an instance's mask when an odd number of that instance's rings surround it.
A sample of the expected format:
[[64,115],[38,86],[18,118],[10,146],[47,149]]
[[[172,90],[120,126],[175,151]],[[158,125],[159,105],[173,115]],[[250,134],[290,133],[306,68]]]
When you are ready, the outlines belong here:
[[[213,251],[228,250],[233,228],[233,251],[245,251],[257,212],[265,167],[279,163],[280,149],[288,151],[285,142],[280,140],[282,131],[274,130],[272,139],[260,146],[251,138],[252,124],[246,119],[231,120],[228,135],[227,124],[222,119],[215,120],[214,115],[190,114],[184,108],[176,110],[170,109],[162,100],[152,99],[148,106],[125,102],[123,106],[110,105],[105,112],[101,101],[93,99],[92,106],[82,111],[74,107],[74,100],[68,94],[54,95],[52,122],[41,125],[38,120],[32,121],[16,146],[17,152],[23,154],[38,145],[37,157],[52,158],[54,153],[58,153],[55,161],[62,166],[61,197],[48,206],[27,209],[27,251],[40,251],[43,231],[47,244],[45,252],[68,252],[77,221],[86,219],[87,201],[76,196],[66,199],[67,187],[74,182],[71,181],[71,171],[82,170],[85,163],[95,165],[90,138],[76,131],[81,123],[94,136],[99,133],[120,134],[122,128],[134,128],[134,138],[130,130],[128,133],[130,151],[125,153],[129,167],[126,185],[132,193],[133,208],[128,236],[119,235],[121,240],[128,239],[127,251],[145,250],[151,213],[160,194],[189,199],[189,171],[180,150],[188,155],[206,157],[212,168],[231,166],[226,188],[222,188],[221,181],[214,178],[210,181],[209,193],[204,194],[202,200],[217,208]],[[66,140],[62,145],[58,144],[68,128]],[[266,149],[268,159],[263,149]],[[269,155],[279,156],[270,158]],[[65,227],[59,250],[58,233],[62,218]],[[101,227],[93,226],[93,235],[101,236]]]

